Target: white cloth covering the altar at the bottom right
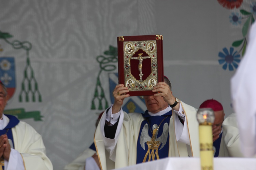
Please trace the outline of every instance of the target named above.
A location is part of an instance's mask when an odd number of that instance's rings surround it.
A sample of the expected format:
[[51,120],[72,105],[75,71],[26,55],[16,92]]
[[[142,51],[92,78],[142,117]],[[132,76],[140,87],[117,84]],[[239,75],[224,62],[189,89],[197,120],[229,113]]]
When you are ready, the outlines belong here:
[[[214,170],[256,170],[256,158],[214,158]],[[169,157],[118,170],[201,170],[200,158]]]

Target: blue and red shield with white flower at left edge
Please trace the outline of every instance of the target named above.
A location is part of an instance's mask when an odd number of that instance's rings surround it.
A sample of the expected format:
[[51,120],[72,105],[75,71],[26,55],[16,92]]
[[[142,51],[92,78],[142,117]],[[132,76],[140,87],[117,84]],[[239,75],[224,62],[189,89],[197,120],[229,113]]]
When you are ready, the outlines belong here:
[[16,89],[14,57],[0,57],[0,80],[11,98]]

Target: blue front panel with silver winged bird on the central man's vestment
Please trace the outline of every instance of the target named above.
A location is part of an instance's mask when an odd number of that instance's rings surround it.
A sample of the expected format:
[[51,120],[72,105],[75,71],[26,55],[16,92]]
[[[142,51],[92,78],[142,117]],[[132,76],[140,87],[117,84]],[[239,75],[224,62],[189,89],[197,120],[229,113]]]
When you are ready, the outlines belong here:
[[[170,137],[169,123],[172,116],[172,111],[167,112],[162,116],[150,116],[148,111],[146,111],[144,114],[142,114],[142,116],[145,118],[145,120],[141,122],[140,134],[137,141],[137,164],[156,160],[158,159],[157,157],[159,157],[159,159],[168,157]],[[153,125],[156,129],[159,126],[155,140],[152,140],[152,132],[154,133]],[[164,127],[165,131],[163,132]],[[166,130],[167,127],[168,130]],[[151,144],[154,141],[159,141],[158,144],[155,144],[155,147],[153,144]],[[165,145],[163,145],[163,143],[165,143]],[[148,149],[148,146],[153,147],[154,149]],[[143,149],[143,147],[145,149]]]

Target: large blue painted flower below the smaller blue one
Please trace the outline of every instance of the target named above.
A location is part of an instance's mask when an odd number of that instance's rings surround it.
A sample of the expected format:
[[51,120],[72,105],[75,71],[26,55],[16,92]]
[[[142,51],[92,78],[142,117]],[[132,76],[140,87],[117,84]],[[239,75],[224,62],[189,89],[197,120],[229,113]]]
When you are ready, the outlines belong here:
[[[228,52],[228,49],[225,47],[223,48],[223,52],[219,52],[219,57],[221,57],[222,59],[219,59],[219,64],[223,64],[224,65],[222,66],[222,68],[224,70],[227,69],[227,66],[228,66],[228,69],[229,71],[233,71],[234,68],[233,66],[237,69],[238,67],[238,63],[240,63],[240,54],[236,52],[234,52],[234,48],[233,47],[230,47],[230,52]],[[233,53],[234,52],[234,53]]]

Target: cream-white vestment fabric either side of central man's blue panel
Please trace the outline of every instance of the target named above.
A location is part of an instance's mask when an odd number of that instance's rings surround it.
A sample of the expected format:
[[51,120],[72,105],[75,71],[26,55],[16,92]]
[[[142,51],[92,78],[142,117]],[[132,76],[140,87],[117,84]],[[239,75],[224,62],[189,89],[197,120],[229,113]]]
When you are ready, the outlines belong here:
[[[184,126],[180,126],[182,128],[177,128],[179,127],[178,124],[181,124],[181,122],[176,112],[173,111],[173,116],[171,116],[169,122],[169,156],[186,157],[191,155],[199,157],[199,130],[196,119],[197,109],[182,101],[180,101],[180,106],[182,107],[180,107],[180,109],[183,110],[185,115],[185,122]],[[139,113],[127,114],[121,110],[114,139],[104,137],[103,128],[105,119],[106,111],[102,115],[100,125],[95,132],[95,145],[102,170],[135,165],[140,125],[145,118]],[[187,145],[186,142],[179,142],[179,140],[182,140],[182,133],[186,132],[187,135],[185,135],[185,138],[188,138],[189,145]]]

